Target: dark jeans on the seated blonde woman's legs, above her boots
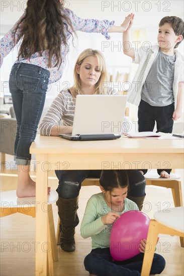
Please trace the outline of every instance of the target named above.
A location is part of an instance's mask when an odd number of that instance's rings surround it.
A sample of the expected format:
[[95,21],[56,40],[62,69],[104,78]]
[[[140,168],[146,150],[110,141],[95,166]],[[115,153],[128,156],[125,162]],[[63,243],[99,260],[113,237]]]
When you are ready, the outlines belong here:
[[[71,170],[55,171],[59,180],[57,192],[59,197],[71,199],[78,196],[81,182],[85,178],[100,178],[101,170]],[[127,170],[129,178],[130,196],[142,197],[145,195],[146,182],[144,176],[138,170]]]

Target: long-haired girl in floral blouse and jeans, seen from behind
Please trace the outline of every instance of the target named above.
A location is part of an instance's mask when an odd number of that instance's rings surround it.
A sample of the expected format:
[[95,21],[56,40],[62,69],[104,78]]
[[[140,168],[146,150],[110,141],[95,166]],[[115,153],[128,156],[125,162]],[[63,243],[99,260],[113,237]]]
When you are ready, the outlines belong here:
[[18,197],[35,196],[35,182],[29,176],[29,149],[37,133],[48,84],[62,77],[69,38],[83,31],[102,33],[110,39],[108,32],[122,33],[132,18],[129,15],[118,27],[114,21],[81,19],[63,4],[61,0],[28,0],[23,16],[1,40],[1,65],[21,43],[9,80],[18,124],[14,147]]

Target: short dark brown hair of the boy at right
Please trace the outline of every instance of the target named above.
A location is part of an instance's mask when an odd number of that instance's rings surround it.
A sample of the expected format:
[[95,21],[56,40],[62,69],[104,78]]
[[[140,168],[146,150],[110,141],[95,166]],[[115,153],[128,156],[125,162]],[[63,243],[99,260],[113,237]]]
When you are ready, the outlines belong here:
[[[170,24],[170,26],[174,30],[174,34],[176,36],[182,35],[182,37],[184,37],[184,22],[182,21],[181,18],[176,17],[176,16],[166,16],[166,17],[163,17],[161,19],[160,23],[159,23],[159,27],[161,27],[165,23],[169,23]],[[177,46],[179,45],[179,43],[181,43],[181,41],[177,42],[176,45],[174,46],[174,48],[177,48]]]

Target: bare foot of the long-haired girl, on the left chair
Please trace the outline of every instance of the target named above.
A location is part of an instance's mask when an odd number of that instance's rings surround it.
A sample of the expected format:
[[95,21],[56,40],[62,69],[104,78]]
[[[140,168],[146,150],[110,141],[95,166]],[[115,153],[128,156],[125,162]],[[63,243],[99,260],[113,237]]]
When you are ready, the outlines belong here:
[[[50,187],[48,187],[47,194],[50,193]],[[17,186],[18,197],[35,197],[36,196],[36,183],[30,178],[28,183],[24,185],[18,184]]]

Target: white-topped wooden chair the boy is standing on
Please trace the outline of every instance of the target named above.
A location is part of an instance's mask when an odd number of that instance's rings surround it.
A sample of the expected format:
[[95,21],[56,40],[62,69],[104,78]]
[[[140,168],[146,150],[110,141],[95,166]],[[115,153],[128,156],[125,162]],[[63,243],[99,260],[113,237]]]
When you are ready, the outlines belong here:
[[[175,207],[183,206],[180,176],[170,173],[170,178],[160,177],[156,171],[151,170],[145,174],[146,185],[170,188]],[[181,247],[184,247],[184,239],[180,237]]]

